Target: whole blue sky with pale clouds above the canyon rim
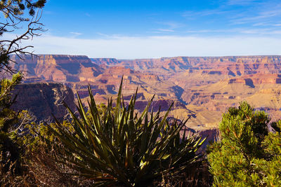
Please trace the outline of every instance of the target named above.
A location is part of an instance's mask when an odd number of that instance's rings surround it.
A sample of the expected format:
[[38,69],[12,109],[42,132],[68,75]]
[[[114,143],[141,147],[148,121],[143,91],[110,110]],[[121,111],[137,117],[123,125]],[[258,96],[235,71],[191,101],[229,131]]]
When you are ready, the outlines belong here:
[[37,54],[281,55],[281,1],[47,0]]

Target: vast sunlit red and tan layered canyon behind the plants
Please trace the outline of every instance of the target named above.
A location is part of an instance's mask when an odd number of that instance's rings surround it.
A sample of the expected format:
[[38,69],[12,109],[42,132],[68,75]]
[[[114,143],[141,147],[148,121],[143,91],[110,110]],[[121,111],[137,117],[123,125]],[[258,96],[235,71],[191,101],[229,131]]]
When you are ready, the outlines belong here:
[[[281,118],[281,56],[162,57],[117,60],[77,55],[11,56],[23,83],[62,83],[81,97],[88,85],[98,104],[116,98],[121,78],[128,103],[138,88],[136,111],[154,96],[152,108],[170,116],[188,118],[193,132],[216,132],[222,113],[247,101],[255,109]],[[25,88],[22,88],[25,89]],[[213,133],[214,134],[214,133]]]

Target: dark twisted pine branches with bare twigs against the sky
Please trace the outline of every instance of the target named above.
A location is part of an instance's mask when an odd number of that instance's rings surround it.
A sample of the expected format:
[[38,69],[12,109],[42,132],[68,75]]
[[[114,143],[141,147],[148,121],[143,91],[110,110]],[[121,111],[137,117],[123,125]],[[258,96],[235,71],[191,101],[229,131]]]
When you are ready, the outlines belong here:
[[[1,1],[1,0],[0,0]],[[6,32],[14,32],[15,29],[20,29],[23,22],[29,22],[27,29],[19,36],[15,36],[15,39],[2,39],[0,40],[0,72],[6,71],[8,74],[13,74],[15,70],[15,61],[10,60],[10,55],[15,54],[20,59],[21,55],[33,55],[33,51],[30,48],[33,46],[22,46],[22,41],[32,40],[34,36],[41,36],[40,32],[46,31],[44,25],[39,22],[41,19],[41,8],[46,1],[35,2],[30,0],[25,1],[1,1],[3,6],[0,8],[0,13],[3,13],[6,17],[6,22],[0,22],[0,37]],[[23,5],[25,4],[25,5]],[[22,8],[24,6],[24,8]],[[24,17],[24,9],[27,7],[29,14],[32,15],[31,19]],[[34,9],[37,9],[34,13]]]

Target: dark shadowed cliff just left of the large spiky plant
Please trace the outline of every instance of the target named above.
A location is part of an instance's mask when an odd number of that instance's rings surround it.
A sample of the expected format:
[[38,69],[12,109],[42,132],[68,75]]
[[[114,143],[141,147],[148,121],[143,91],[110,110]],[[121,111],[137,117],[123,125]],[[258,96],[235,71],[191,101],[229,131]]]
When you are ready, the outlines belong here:
[[74,95],[70,88],[61,83],[23,83],[13,90],[17,95],[12,109],[30,111],[37,120],[63,119],[66,114],[64,100],[70,109],[75,110]]

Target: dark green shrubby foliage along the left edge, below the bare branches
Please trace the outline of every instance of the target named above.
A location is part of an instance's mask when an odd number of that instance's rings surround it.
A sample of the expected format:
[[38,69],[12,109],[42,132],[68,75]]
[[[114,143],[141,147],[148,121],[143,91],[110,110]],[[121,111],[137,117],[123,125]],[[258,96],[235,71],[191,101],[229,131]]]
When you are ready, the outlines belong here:
[[14,74],[11,80],[0,81],[0,186],[20,186],[25,180],[25,145],[21,144],[18,130],[29,121],[27,111],[13,111],[16,96],[11,94],[20,83],[22,74]]

